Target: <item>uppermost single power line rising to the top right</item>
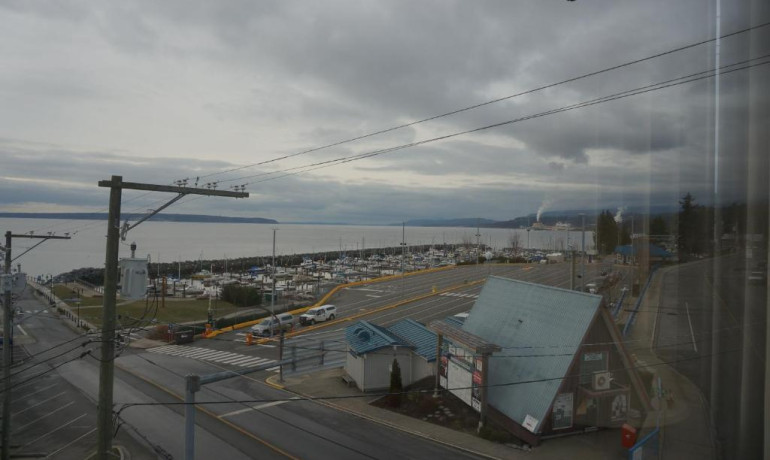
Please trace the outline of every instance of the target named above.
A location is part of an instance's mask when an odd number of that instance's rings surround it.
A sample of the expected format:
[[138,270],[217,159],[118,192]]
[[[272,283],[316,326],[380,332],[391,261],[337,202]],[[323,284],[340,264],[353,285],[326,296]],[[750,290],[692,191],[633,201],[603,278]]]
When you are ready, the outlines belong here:
[[[642,63],[642,62],[645,62],[645,61],[649,61],[649,60],[652,60],[652,59],[657,59],[657,58],[660,58],[660,57],[663,57],[663,56],[667,56],[669,54],[678,53],[680,51],[684,51],[684,50],[687,50],[687,49],[695,48],[695,47],[698,47],[698,46],[701,46],[701,45],[704,45],[704,44],[707,44],[707,43],[715,42],[715,41],[720,40],[720,39],[724,39],[724,38],[732,37],[732,36],[735,36],[735,35],[740,35],[740,34],[743,34],[743,33],[746,33],[746,32],[750,32],[752,30],[759,29],[759,28],[762,28],[762,27],[766,27],[768,25],[770,25],[770,22],[765,22],[765,23],[757,24],[755,26],[747,27],[747,28],[741,29],[741,30],[737,30],[735,32],[731,32],[729,34],[725,34],[725,35],[722,35],[722,36],[719,36],[719,37],[714,37],[714,38],[710,38],[710,39],[707,39],[707,40],[701,40],[699,42],[691,43],[689,45],[684,45],[684,46],[680,46],[678,48],[674,48],[674,49],[671,49],[671,50],[668,50],[668,51],[664,51],[664,52],[661,52],[661,53],[653,54],[653,55],[647,56],[645,58],[636,59],[636,60],[633,60],[633,61],[625,62],[623,64],[618,64],[618,65],[615,65],[615,66],[607,67],[607,68],[604,68],[602,70],[597,70],[597,71],[589,72],[589,73],[586,73],[586,74],[583,74],[583,75],[580,75],[580,76],[577,76],[577,77],[572,77],[572,78],[568,78],[566,80],[561,80],[561,81],[556,82],[556,83],[550,83],[548,85],[539,86],[537,88],[529,89],[529,90],[522,91],[522,92],[519,92],[519,93],[514,93],[514,94],[511,94],[511,95],[508,95],[508,96],[503,96],[503,97],[500,97],[500,98],[497,98],[497,99],[492,99],[492,100],[489,100],[489,101],[486,101],[486,102],[482,102],[482,103],[479,103],[479,104],[471,105],[471,106],[468,106],[468,107],[463,107],[461,109],[452,110],[452,111],[445,112],[445,113],[442,113],[442,114],[439,114],[439,115],[434,115],[434,116],[431,116],[431,117],[428,117],[428,118],[423,118],[423,119],[420,119],[420,120],[417,120],[417,121],[413,121],[413,122],[409,122],[409,123],[404,123],[404,124],[393,126],[393,127],[390,127],[390,128],[385,128],[385,129],[382,129],[382,130],[379,130],[379,131],[375,131],[375,132],[372,132],[372,133],[369,133],[369,134],[364,134],[364,135],[356,136],[356,137],[353,137],[353,138],[350,138],[350,139],[345,139],[345,140],[342,140],[342,141],[333,142],[331,144],[326,144],[326,145],[323,145],[323,146],[320,146],[320,147],[314,147],[314,148],[307,149],[307,150],[304,150],[304,151],[301,151],[301,152],[297,152],[297,153],[293,153],[293,154],[289,154],[289,155],[284,155],[284,156],[281,156],[281,157],[277,157],[277,158],[273,158],[273,159],[270,159],[270,160],[265,160],[265,161],[261,161],[261,162],[257,162],[257,163],[252,163],[252,164],[248,164],[248,165],[244,165],[244,166],[238,166],[238,167],[235,167],[235,168],[230,168],[230,169],[227,169],[227,170],[224,170],[224,171],[219,171],[219,172],[216,172],[216,173],[206,174],[206,175],[203,175],[203,176],[199,176],[199,178],[202,179],[202,178],[212,177],[212,176],[216,176],[216,175],[220,175],[220,174],[226,174],[226,173],[229,173],[229,172],[239,171],[239,170],[246,169],[246,168],[252,168],[252,167],[255,167],[255,166],[261,166],[261,165],[265,165],[265,164],[268,164],[268,163],[273,163],[273,162],[276,162],[276,161],[285,160],[285,159],[293,158],[293,157],[300,156],[300,155],[305,155],[305,154],[308,154],[308,153],[311,153],[311,152],[316,152],[316,151],[319,151],[319,150],[324,150],[324,149],[327,149],[327,148],[330,148],[330,147],[336,147],[336,146],[339,146],[339,145],[342,145],[342,144],[347,144],[347,143],[350,143],[350,142],[366,139],[366,138],[369,138],[369,137],[372,137],[372,136],[376,136],[376,135],[379,135],[379,134],[385,134],[385,133],[388,133],[388,132],[391,132],[391,131],[396,131],[396,130],[399,130],[399,129],[402,129],[402,128],[407,128],[407,127],[410,127],[410,126],[414,126],[414,125],[417,125],[417,124],[420,124],[420,123],[425,123],[425,122],[428,122],[428,121],[432,121],[432,120],[436,120],[436,119],[439,119],[439,118],[447,117],[447,116],[450,116],[450,115],[456,115],[458,113],[466,112],[466,111],[469,111],[469,110],[474,110],[474,109],[477,109],[477,108],[480,108],[480,107],[484,107],[484,106],[487,106],[487,105],[491,105],[491,104],[495,104],[495,103],[498,103],[498,102],[506,101],[506,100],[513,99],[513,98],[516,98],[516,97],[525,96],[527,94],[532,94],[532,93],[535,93],[535,92],[538,92],[538,91],[543,91],[543,90],[546,90],[546,89],[549,89],[549,88],[553,88],[553,87],[556,87],[556,86],[560,86],[560,85],[564,85],[564,84],[567,84],[567,83],[576,82],[576,81],[579,81],[579,80],[583,80],[583,79],[586,79],[586,78],[589,78],[589,77],[593,77],[593,76],[596,76],[596,75],[600,75],[600,74],[603,74],[603,73],[611,72],[613,70],[622,69],[624,67],[629,67],[629,66],[632,66],[634,64],[639,64],[639,63]],[[230,180],[228,180],[228,181],[230,181]],[[222,181],[222,182],[225,182],[225,181]]]

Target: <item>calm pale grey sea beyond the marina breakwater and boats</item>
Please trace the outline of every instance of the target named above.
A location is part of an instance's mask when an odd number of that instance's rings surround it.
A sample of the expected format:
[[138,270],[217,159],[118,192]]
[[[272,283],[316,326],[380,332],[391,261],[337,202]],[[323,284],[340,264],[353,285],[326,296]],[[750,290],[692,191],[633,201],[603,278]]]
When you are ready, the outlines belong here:
[[[219,224],[187,222],[144,222],[128,232],[120,244],[120,257],[131,255],[130,244],[137,245],[136,256],[149,256],[152,262],[190,260],[225,260],[240,257],[266,257],[273,251],[273,229],[276,230],[275,252],[282,255],[305,255],[341,251],[357,254],[362,248],[386,248],[399,254],[401,226],[317,225],[317,224]],[[6,231],[35,235],[53,232],[69,234],[69,240],[48,240],[13,262],[21,264],[29,275],[57,275],[76,268],[103,267],[107,222],[64,219],[0,218],[0,234]],[[511,246],[512,235],[518,235],[521,248],[544,251],[563,250],[568,245],[581,247],[579,231],[530,231],[526,229],[459,227],[406,227],[408,246],[477,243],[502,249]],[[40,240],[14,238],[13,257],[21,255]],[[3,241],[3,244],[5,242]],[[586,249],[593,248],[593,233],[585,233]]]

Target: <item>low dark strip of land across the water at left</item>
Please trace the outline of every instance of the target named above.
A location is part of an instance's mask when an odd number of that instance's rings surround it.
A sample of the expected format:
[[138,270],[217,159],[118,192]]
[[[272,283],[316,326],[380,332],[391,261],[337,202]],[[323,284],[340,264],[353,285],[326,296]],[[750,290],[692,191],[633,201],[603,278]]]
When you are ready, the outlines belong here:
[[[136,221],[146,214],[121,214],[120,220]],[[107,220],[105,212],[0,212],[0,218],[10,219],[68,219]],[[156,214],[149,220],[155,222],[204,222],[219,224],[277,224],[277,220],[263,217],[206,216],[202,214]]]

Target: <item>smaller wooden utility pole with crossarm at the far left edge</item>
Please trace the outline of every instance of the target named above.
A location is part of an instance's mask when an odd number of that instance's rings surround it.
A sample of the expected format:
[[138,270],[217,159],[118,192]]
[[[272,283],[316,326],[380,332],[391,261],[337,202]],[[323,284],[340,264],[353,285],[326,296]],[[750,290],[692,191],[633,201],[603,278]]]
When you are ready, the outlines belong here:
[[[11,448],[11,364],[13,361],[13,346],[11,345],[11,335],[13,334],[11,331],[11,321],[12,318],[12,310],[11,310],[11,289],[12,289],[12,278],[11,278],[11,264],[14,260],[11,258],[11,244],[13,242],[14,238],[32,238],[32,239],[40,239],[39,243],[33,245],[31,248],[27,249],[26,251],[22,252],[18,256],[16,256],[16,259],[23,256],[24,254],[28,253],[29,251],[35,249],[40,244],[44,243],[46,240],[68,240],[70,239],[69,236],[53,236],[53,235],[14,235],[11,232],[5,232],[5,273],[3,274],[3,286],[5,290],[5,295],[3,298],[3,381],[5,382],[5,385],[3,385],[3,435],[2,435],[2,459],[8,460],[11,456],[10,454],[10,448]],[[21,276],[21,272],[19,272],[19,275]],[[53,285],[53,282],[52,282]]]

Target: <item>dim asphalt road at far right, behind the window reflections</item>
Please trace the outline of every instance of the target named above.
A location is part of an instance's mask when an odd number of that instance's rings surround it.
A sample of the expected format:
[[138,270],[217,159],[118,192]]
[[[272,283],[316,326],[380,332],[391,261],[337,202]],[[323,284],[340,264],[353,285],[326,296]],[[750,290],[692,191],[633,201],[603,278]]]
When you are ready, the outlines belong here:
[[748,283],[753,263],[736,254],[668,272],[657,319],[656,352],[710,402],[724,458],[761,458],[767,289]]

